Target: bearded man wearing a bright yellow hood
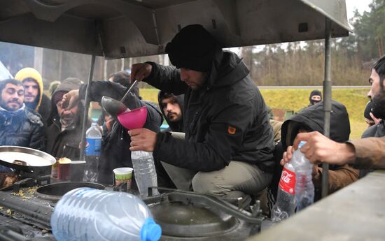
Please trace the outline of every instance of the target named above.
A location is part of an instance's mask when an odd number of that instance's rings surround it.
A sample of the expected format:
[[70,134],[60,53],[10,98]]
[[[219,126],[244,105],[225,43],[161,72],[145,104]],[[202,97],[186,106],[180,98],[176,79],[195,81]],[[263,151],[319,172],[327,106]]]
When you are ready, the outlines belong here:
[[22,68],[15,75],[15,80],[23,83],[25,89],[24,103],[28,108],[36,110],[43,120],[47,122],[50,116],[50,99],[43,94],[43,79],[34,68]]

